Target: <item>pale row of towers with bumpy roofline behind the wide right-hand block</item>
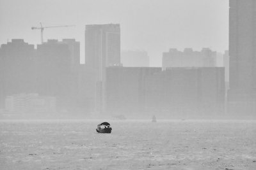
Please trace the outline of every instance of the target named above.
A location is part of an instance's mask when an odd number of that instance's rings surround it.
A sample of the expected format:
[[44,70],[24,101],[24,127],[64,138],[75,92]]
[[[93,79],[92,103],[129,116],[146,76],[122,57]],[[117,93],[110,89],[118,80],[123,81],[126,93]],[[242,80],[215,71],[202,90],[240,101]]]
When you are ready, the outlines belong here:
[[202,48],[201,52],[185,48],[180,52],[176,48],[170,48],[169,52],[163,53],[163,70],[167,67],[215,67],[216,52],[210,48]]

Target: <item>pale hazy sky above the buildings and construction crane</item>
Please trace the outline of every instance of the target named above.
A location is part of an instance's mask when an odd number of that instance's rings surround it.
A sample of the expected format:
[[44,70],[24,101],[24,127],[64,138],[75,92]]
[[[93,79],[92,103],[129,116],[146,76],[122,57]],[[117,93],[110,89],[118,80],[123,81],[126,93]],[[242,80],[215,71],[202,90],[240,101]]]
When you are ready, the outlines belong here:
[[40,43],[33,26],[76,25],[45,29],[44,39],[76,38],[84,58],[86,24],[120,24],[121,49],[145,50],[150,66],[161,66],[169,48],[228,49],[228,0],[0,0],[0,44],[22,38]]

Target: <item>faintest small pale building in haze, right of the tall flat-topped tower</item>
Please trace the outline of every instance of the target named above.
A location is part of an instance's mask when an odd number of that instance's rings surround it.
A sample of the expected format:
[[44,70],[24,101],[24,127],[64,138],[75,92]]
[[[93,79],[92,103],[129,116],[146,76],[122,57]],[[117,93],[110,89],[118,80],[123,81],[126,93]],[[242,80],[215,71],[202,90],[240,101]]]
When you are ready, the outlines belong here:
[[140,50],[122,51],[121,63],[124,67],[149,67],[148,53]]

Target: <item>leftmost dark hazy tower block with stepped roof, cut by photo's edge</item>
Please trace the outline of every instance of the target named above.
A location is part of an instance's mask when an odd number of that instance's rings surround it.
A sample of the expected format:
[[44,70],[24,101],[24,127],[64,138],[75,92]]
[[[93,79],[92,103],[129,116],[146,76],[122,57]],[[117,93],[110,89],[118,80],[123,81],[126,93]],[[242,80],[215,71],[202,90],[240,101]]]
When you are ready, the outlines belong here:
[[6,96],[36,91],[34,45],[12,39],[1,45],[0,62],[0,107]]

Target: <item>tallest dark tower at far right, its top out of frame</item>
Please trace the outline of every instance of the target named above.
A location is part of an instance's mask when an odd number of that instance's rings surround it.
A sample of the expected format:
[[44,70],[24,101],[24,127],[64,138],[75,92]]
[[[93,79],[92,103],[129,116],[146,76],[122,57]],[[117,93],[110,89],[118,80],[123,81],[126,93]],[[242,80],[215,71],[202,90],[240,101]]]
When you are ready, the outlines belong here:
[[230,114],[256,113],[256,1],[229,3]]

